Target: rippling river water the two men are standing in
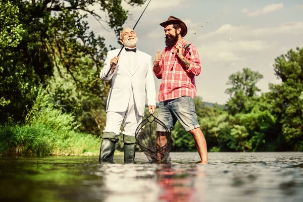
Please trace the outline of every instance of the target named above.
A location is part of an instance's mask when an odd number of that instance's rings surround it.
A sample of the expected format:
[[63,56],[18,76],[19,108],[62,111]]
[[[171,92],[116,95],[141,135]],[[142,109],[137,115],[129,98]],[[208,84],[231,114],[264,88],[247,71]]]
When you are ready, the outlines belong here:
[[0,201],[303,201],[303,153],[0,158]]

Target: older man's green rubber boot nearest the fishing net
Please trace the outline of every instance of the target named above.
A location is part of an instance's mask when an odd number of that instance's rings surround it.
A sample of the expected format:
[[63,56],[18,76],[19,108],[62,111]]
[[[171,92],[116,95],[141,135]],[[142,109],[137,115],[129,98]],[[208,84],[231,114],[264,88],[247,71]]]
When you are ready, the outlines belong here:
[[136,154],[136,139],[135,136],[123,135],[124,142],[124,162],[133,163]]

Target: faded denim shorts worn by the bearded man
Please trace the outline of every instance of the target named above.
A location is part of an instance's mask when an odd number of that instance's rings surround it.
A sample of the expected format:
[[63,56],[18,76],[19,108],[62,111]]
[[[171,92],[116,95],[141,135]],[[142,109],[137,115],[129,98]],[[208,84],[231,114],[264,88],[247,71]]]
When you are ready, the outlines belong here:
[[[182,96],[159,103],[157,118],[162,121],[170,131],[177,120],[185,131],[200,127],[194,107],[194,100],[189,96]],[[166,131],[157,124],[157,131]]]

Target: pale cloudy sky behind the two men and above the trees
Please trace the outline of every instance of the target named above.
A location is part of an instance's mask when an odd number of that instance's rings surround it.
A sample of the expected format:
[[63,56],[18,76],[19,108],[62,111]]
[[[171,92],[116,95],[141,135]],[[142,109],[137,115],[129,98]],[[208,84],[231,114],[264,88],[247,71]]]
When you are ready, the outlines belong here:
[[[148,1],[141,7],[131,7],[123,1],[130,15],[124,27],[134,27]],[[106,19],[104,13],[98,14]],[[281,83],[274,73],[275,58],[290,49],[303,48],[301,0],[151,0],[135,32],[137,48],[153,60],[157,49],[162,52],[165,47],[164,28],[159,24],[171,15],[186,24],[185,39],[216,16],[188,39],[198,49],[202,69],[195,82],[197,96],[204,102],[226,104],[228,77],[246,67],[264,76],[257,86],[261,92],[269,91],[269,83]],[[96,35],[105,37],[108,46],[121,48],[106,23],[101,26],[93,17],[87,21]],[[161,80],[155,77],[155,83],[158,93]]]

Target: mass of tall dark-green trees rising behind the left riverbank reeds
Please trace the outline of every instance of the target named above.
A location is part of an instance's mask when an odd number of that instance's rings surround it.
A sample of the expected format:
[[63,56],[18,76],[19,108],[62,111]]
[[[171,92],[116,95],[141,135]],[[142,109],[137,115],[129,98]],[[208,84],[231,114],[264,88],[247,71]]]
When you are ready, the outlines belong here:
[[[138,6],[145,0],[125,2]],[[9,119],[24,123],[38,86],[51,85],[57,107],[76,115],[86,129],[93,124],[88,130],[96,131],[102,119],[96,114],[103,113],[96,106],[104,108],[109,88],[98,79],[108,49],[105,38],[90,31],[86,18],[107,23],[118,37],[128,15],[121,3],[0,0],[0,124]],[[104,12],[105,19],[92,6]]]

